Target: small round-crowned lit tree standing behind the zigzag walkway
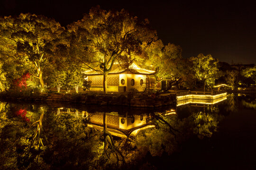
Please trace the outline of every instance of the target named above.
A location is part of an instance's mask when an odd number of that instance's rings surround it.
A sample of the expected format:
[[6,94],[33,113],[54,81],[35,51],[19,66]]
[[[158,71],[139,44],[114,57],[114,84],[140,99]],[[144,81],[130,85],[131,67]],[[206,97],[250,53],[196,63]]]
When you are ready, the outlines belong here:
[[214,59],[210,54],[204,56],[202,53],[197,57],[191,57],[193,63],[193,70],[197,79],[203,83],[203,91],[205,91],[205,85],[214,85],[215,79],[218,74],[218,59]]

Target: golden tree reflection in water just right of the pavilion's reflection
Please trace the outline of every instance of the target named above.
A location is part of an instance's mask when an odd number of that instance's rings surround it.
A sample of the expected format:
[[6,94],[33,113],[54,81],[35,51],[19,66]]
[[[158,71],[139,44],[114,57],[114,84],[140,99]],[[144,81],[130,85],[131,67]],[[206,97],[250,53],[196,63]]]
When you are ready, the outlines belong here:
[[[150,153],[152,156],[161,156],[164,152],[171,154],[177,149],[177,140],[181,133],[177,133],[181,125],[177,116],[159,116],[158,113],[151,115],[155,128],[148,128],[140,132],[134,141],[137,147],[137,157],[141,158]],[[176,136],[179,134],[179,136]],[[176,138],[177,137],[177,138]]]

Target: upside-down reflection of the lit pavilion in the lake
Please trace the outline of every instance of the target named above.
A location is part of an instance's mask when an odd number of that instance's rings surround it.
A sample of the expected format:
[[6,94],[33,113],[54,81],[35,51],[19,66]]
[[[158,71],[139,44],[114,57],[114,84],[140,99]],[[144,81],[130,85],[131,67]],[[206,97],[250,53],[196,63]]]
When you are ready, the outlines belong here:
[[[90,118],[89,127],[103,130],[103,113],[83,111],[83,116]],[[119,137],[136,136],[142,129],[155,127],[146,115],[119,115],[117,112],[106,113],[106,123],[110,134]]]

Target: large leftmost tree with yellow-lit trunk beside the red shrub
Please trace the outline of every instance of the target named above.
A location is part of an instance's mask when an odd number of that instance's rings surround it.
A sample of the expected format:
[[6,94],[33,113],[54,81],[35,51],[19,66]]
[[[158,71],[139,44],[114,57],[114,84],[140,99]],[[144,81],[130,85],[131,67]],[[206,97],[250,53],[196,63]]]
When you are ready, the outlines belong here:
[[20,14],[18,17],[0,18],[0,54],[11,58],[44,87],[43,73],[55,60],[55,50],[60,43],[64,28],[54,19],[35,14]]

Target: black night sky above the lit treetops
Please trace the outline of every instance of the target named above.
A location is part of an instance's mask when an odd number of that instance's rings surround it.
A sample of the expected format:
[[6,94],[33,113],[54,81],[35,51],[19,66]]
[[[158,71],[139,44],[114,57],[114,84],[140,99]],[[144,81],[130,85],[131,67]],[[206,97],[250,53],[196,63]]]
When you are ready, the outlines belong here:
[[0,16],[35,13],[66,26],[82,18],[92,6],[125,8],[148,18],[159,39],[180,45],[183,57],[211,54],[219,61],[256,63],[256,3],[216,0],[0,0]]

